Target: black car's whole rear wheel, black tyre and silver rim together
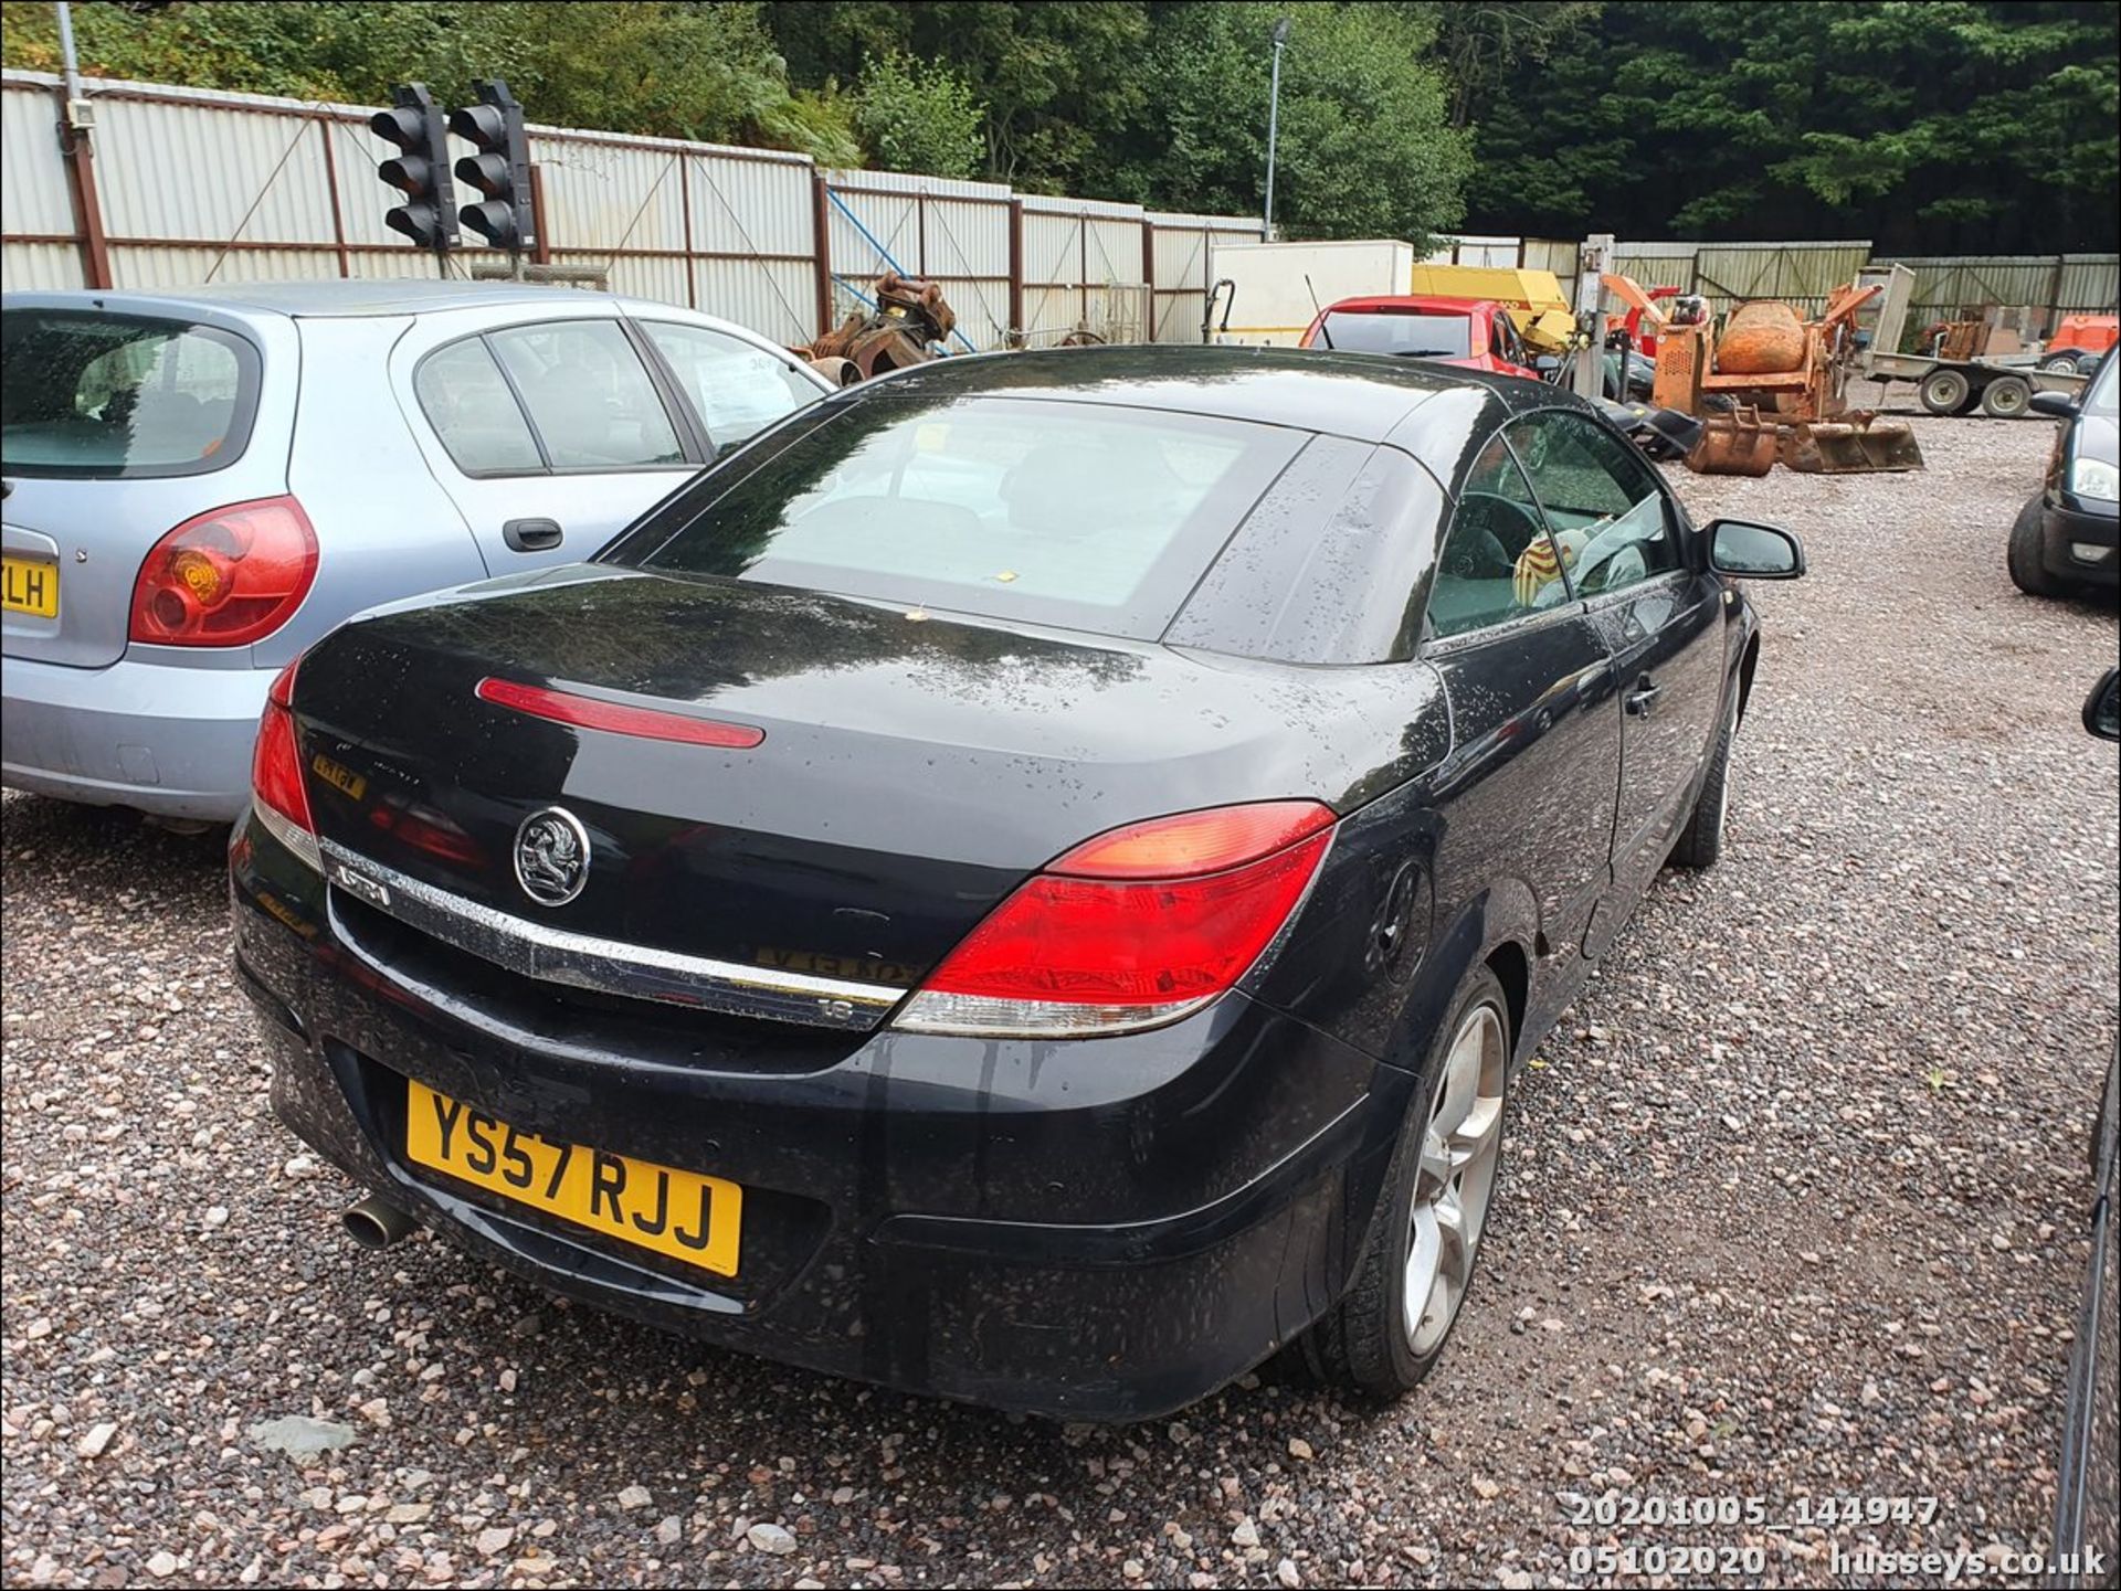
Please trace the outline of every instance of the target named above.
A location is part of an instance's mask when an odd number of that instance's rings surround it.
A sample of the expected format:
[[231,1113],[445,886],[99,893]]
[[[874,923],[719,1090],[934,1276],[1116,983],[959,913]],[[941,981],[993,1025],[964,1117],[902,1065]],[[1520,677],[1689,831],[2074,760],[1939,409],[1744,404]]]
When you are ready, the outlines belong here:
[[1510,1008],[1478,966],[1436,1030],[1355,1280],[1302,1339],[1321,1381],[1398,1398],[1436,1369],[1502,1184],[1508,1080]]

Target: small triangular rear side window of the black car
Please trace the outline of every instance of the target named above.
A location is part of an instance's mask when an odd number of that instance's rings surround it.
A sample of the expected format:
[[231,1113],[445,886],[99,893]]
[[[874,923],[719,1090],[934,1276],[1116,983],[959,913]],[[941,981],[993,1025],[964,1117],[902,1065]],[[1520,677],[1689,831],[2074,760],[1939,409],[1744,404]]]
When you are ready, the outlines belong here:
[[1459,487],[1459,506],[1430,587],[1430,633],[1463,636],[1567,597],[1540,502],[1502,432],[1495,432]]

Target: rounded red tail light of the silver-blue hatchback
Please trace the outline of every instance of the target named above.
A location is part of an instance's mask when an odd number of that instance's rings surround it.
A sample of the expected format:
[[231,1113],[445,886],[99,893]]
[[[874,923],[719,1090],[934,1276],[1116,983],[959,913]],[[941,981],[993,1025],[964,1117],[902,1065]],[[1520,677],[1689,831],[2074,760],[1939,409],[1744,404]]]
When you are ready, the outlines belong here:
[[316,580],[316,532],[295,498],[210,508],[140,564],[127,640],[248,646],[295,616]]

